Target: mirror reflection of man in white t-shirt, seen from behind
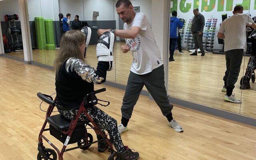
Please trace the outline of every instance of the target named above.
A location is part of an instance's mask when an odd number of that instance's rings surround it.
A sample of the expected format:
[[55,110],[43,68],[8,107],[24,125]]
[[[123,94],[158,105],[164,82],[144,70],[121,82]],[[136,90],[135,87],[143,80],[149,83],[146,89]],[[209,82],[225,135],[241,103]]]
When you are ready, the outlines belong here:
[[246,46],[246,26],[256,28],[256,24],[248,14],[243,14],[241,5],[235,6],[233,16],[224,20],[218,32],[218,38],[225,39],[224,51],[226,55],[226,72],[223,77],[223,92],[226,92],[224,100],[241,103],[232,94],[234,85],[238,79],[244,48]]

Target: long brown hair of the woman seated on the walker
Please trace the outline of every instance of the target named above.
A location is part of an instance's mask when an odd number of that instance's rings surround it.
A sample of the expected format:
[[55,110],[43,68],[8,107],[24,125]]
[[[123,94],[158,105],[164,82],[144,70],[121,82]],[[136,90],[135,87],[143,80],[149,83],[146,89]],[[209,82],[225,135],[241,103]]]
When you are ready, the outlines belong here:
[[53,64],[56,74],[68,58],[74,57],[84,61],[84,56],[79,48],[84,43],[84,40],[85,35],[80,30],[70,30],[62,36],[60,39],[60,50],[57,52]]

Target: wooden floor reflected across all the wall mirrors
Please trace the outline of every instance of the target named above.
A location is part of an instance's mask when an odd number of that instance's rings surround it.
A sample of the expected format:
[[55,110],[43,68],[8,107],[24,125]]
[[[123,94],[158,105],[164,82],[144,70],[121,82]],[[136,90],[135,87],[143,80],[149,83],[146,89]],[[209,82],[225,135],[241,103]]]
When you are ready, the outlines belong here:
[[[108,72],[107,79],[111,82],[126,85],[132,55],[130,52],[126,54],[121,52],[120,45],[122,44],[124,43],[115,43],[115,66],[111,72]],[[52,66],[57,51],[33,50],[34,61]],[[176,50],[174,53],[175,61],[169,62],[168,92],[171,97],[256,118],[256,84],[250,82],[251,89],[243,90],[242,104],[225,102],[223,100],[225,93],[221,92],[224,85],[222,78],[226,70],[225,56],[212,53],[206,53],[204,57],[201,57],[200,54],[189,56],[188,51],[184,50],[184,52],[185,54],[178,54]],[[23,52],[13,52],[10,55],[22,58]],[[96,68],[98,60],[95,55],[95,45],[90,45],[87,50],[86,61]],[[238,82],[233,92],[238,99],[241,99],[240,78],[244,75],[248,58],[243,59]],[[145,87],[144,90],[146,90]]]

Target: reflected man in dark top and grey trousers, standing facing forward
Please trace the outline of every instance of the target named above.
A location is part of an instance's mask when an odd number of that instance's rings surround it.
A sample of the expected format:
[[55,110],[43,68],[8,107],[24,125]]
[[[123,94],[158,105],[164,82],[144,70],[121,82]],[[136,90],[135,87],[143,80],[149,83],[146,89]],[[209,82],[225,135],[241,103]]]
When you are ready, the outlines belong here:
[[204,56],[203,47],[203,31],[204,31],[204,16],[199,13],[198,8],[193,10],[194,18],[192,20],[191,32],[193,34],[193,40],[195,44],[195,52],[190,54],[191,56],[197,56],[197,50],[200,48],[202,52],[201,56]]

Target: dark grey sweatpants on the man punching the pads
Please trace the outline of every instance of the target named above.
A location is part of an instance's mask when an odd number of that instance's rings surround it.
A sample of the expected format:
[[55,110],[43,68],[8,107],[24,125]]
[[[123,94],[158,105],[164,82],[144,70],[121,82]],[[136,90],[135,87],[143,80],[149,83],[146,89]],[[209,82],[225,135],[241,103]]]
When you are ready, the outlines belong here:
[[122,117],[128,120],[131,118],[133,108],[144,85],[159,106],[162,114],[164,116],[169,115],[173,105],[170,104],[167,97],[164,86],[164,65],[162,65],[143,75],[130,72],[121,107]]

